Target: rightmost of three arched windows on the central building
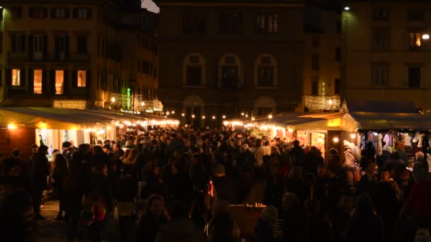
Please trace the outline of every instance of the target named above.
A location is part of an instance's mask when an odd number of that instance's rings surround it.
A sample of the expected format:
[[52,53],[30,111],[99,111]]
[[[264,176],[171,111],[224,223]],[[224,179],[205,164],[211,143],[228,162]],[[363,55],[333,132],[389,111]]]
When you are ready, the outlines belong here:
[[254,86],[277,85],[277,62],[270,54],[262,54],[254,62]]

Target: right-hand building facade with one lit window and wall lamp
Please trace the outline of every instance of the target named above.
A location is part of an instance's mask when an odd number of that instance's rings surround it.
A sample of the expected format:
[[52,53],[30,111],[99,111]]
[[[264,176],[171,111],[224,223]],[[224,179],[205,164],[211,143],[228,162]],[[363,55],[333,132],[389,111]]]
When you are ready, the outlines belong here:
[[[342,98],[431,102],[430,1],[346,1]],[[347,11],[348,10],[348,11]]]

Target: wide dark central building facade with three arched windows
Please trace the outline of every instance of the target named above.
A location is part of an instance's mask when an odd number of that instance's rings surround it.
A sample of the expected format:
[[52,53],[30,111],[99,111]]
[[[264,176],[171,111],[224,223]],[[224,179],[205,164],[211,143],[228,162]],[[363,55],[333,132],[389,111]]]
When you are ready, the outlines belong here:
[[208,124],[300,105],[302,1],[162,0],[159,7],[159,96],[168,111]]

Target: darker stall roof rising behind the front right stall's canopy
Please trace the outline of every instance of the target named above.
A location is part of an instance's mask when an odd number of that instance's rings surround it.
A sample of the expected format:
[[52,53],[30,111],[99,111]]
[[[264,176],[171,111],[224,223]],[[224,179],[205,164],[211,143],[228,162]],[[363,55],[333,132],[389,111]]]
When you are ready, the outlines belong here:
[[413,102],[401,100],[345,100],[341,109],[348,113],[418,113]]

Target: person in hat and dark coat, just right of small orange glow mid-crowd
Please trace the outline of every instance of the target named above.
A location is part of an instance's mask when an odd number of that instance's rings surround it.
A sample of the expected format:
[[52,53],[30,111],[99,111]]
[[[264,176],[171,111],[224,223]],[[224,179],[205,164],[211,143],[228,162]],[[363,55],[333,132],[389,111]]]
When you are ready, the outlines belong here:
[[237,190],[234,180],[225,173],[225,167],[220,163],[213,166],[213,184],[215,188],[215,198],[223,199],[230,204],[237,202]]

